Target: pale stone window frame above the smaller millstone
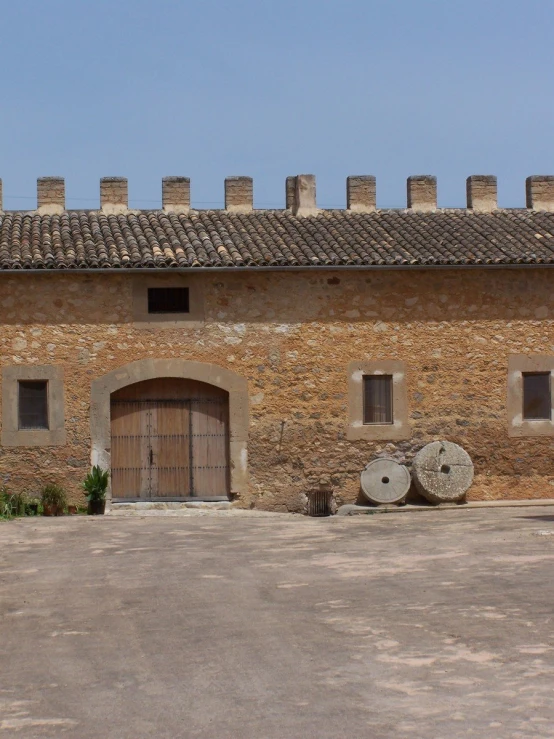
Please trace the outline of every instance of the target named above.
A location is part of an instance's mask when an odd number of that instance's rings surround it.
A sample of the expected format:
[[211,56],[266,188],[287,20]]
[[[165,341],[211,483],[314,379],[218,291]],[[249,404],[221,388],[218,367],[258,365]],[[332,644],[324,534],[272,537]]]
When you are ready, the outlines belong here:
[[[392,376],[392,423],[364,423],[364,377]],[[362,360],[348,365],[348,426],[350,441],[398,441],[411,435],[405,363],[396,359]]]

